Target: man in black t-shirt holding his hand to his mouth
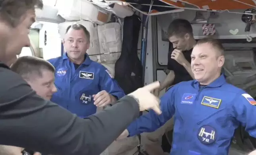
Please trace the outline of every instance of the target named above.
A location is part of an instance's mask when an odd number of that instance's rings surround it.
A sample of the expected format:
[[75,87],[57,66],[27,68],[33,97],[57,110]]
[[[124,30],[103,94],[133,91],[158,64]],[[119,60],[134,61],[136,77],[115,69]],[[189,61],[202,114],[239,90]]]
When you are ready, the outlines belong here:
[[[168,53],[167,77],[161,82],[158,90],[154,91],[156,96],[159,92],[170,85],[175,85],[181,81],[189,81],[194,78],[190,66],[191,53],[196,40],[193,36],[192,26],[185,19],[175,19],[168,28],[170,46]],[[165,155],[161,145],[162,136],[165,132],[173,129],[173,119],[170,119],[155,132],[146,133],[145,150],[149,155]]]

